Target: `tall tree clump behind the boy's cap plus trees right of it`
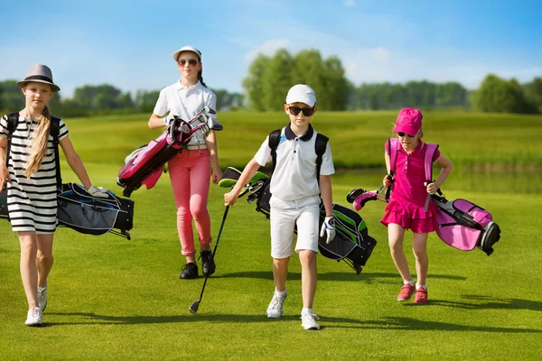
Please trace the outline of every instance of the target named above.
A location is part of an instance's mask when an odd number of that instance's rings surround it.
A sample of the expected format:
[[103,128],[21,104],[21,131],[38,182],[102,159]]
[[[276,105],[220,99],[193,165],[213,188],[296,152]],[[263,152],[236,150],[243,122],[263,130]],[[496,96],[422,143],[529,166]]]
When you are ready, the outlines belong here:
[[497,113],[542,113],[542,78],[519,84],[489,74],[478,90],[458,82],[437,84],[408,81],[356,86],[345,78],[341,60],[322,59],[320,51],[304,50],[294,56],[285,49],[273,56],[257,55],[248,68],[243,88],[248,106],[259,111],[277,110],[293,84],[314,88],[321,110],[380,110],[403,107],[464,108]]

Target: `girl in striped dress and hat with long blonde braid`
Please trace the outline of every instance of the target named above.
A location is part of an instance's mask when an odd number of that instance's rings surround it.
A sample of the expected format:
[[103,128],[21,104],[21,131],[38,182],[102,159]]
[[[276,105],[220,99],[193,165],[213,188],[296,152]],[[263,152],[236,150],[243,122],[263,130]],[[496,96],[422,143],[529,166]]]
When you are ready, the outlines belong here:
[[[23,88],[25,107],[18,114],[9,154],[8,116],[0,120],[0,190],[7,186],[9,218],[21,244],[21,278],[29,306],[24,323],[40,326],[47,305],[52,237],[57,227],[56,166],[47,102],[60,88],[52,82],[51,69],[42,64],[33,65],[16,84]],[[92,185],[62,121],[59,141],[66,161],[85,189],[95,197],[107,198],[107,190]]]

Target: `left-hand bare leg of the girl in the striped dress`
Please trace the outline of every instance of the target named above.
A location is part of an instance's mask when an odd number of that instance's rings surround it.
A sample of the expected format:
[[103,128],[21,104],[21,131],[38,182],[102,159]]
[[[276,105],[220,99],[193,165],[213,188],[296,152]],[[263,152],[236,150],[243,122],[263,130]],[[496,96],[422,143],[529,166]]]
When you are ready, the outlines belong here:
[[28,301],[28,308],[38,306],[38,270],[36,255],[38,245],[35,232],[17,232],[21,245],[21,279]]

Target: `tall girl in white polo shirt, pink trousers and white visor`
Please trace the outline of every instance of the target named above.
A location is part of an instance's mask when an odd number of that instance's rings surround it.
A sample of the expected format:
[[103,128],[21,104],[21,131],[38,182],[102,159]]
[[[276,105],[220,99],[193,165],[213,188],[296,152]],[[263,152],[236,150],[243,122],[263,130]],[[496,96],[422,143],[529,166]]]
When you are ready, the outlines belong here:
[[[177,62],[181,79],[160,92],[153,115],[149,119],[151,129],[168,125],[173,116],[190,120],[204,106],[216,109],[217,97],[207,88],[201,77],[201,51],[192,46],[184,46],[173,53],[173,60]],[[168,168],[177,207],[177,230],[182,255],[186,257],[186,264],[182,266],[179,278],[193,279],[198,276],[192,218],[201,245],[201,271],[203,274],[212,274],[215,272],[215,264],[214,261],[211,263],[212,238],[207,210],[209,176],[211,175],[215,184],[222,177],[214,131],[211,130],[207,138],[204,138],[201,131],[196,132],[188,144],[188,149],[168,162]]]

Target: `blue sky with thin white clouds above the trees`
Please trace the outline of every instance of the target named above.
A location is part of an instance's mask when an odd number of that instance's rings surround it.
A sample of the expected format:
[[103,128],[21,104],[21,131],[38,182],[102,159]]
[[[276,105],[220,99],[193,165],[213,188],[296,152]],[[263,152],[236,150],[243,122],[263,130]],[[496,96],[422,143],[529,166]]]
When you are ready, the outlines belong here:
[[28,0],[0,9],[0,79],[44,63],[61,97],[87,84],[164,88],[179,79],[172,54],[183,45],[201,50],[208,86],[236,92],[256,54],[279,48],[337,55],[355,85],[478,88],[490,72],[542,76],[539,1]]

